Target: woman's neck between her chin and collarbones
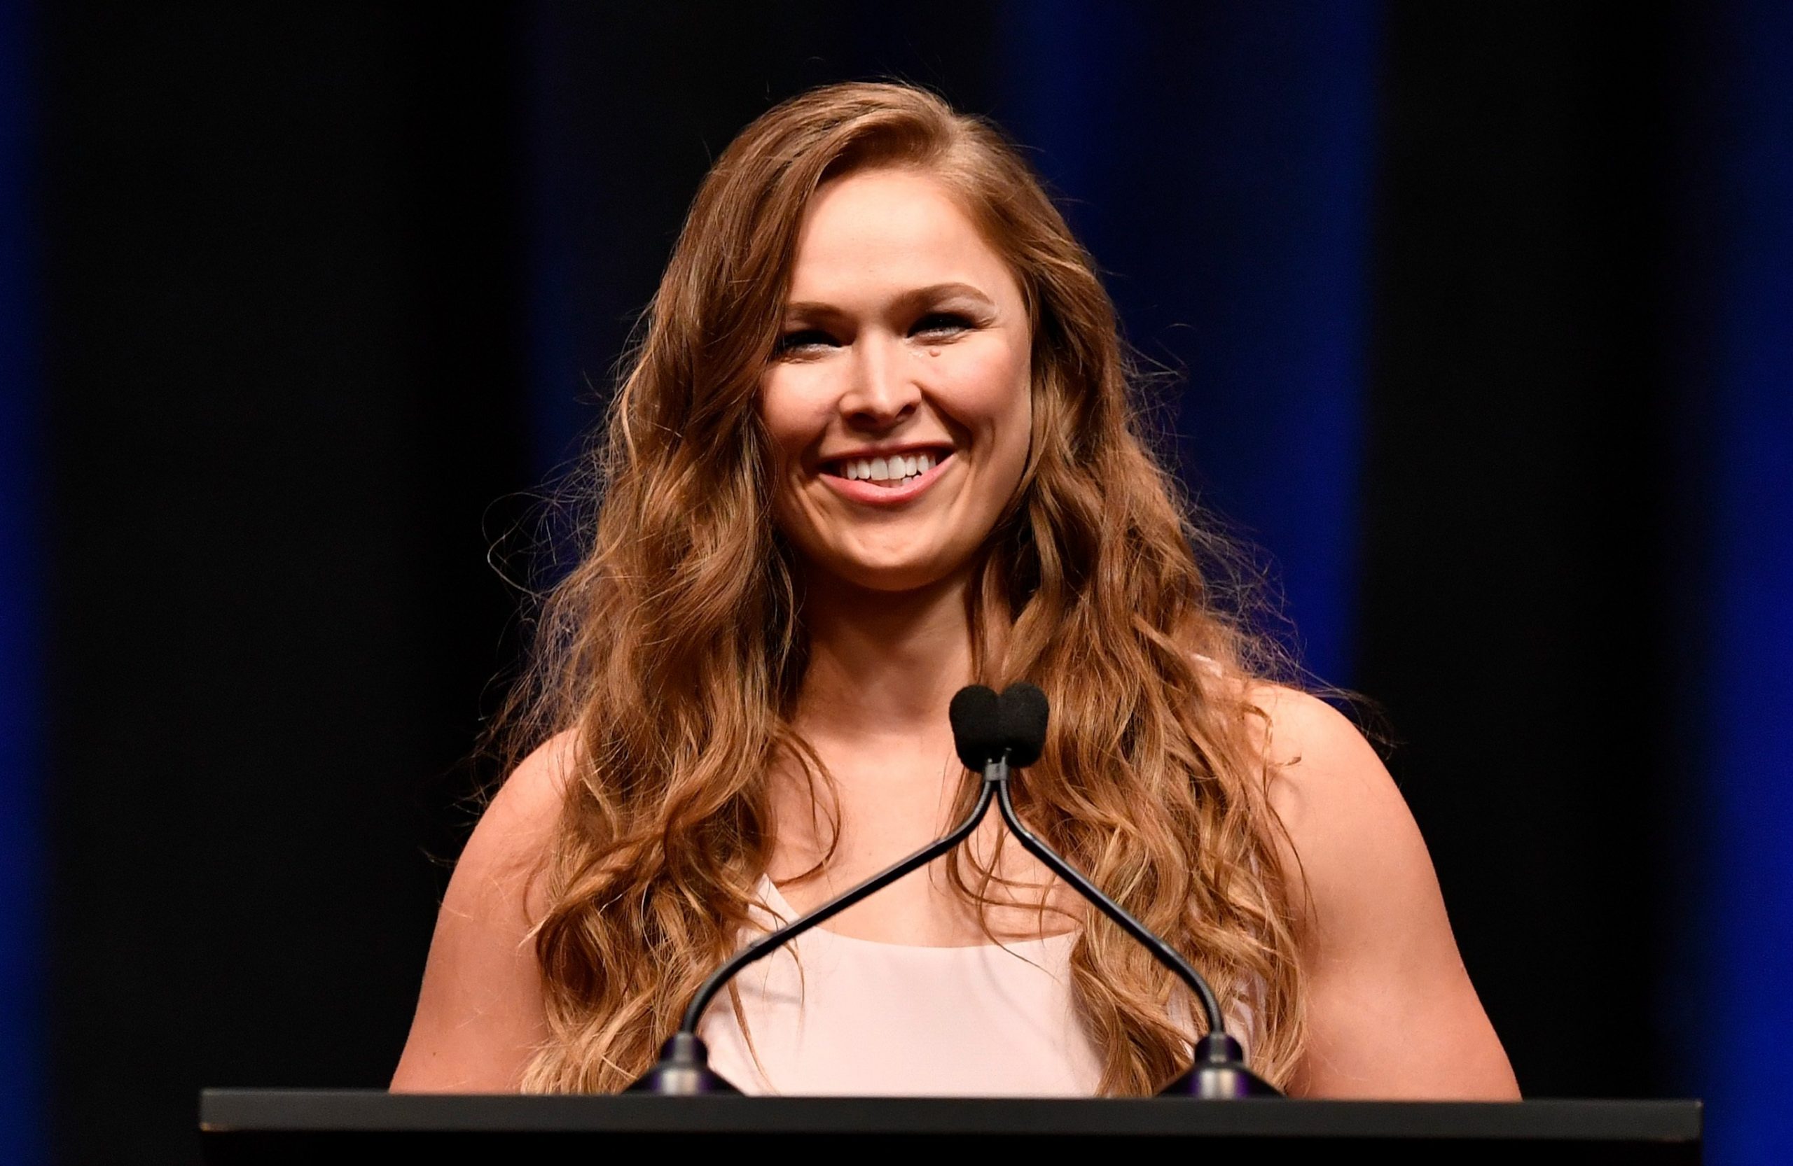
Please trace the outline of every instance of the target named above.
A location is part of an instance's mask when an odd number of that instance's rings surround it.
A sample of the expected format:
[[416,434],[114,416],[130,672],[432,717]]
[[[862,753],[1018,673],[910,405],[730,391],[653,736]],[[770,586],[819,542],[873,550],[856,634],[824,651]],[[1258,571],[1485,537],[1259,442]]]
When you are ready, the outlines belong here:
[[810,579],[809,670],[796,709],[803,733],[948,736],[947,706],[972,679],[968,586],[970,571],[902,593]]

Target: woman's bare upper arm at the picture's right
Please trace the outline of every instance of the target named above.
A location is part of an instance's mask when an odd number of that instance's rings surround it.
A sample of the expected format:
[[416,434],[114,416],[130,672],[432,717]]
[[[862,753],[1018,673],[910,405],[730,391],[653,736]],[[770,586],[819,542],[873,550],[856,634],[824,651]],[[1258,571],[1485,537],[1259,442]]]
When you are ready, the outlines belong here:
[[1431,856],[1363,734],[1275,690],[1271,804],[1304,892],[1307,1051],[1293,1089],[1334,1098],[1519,1096],[1458,955]]

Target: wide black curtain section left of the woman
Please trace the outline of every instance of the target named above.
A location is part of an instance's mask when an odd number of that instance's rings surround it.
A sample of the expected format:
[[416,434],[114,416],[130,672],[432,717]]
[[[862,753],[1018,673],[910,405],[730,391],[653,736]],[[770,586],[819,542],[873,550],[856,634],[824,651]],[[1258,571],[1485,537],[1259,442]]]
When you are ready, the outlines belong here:
[[384,1085],[527,484],[515,30],[45,5],[48,1143]]

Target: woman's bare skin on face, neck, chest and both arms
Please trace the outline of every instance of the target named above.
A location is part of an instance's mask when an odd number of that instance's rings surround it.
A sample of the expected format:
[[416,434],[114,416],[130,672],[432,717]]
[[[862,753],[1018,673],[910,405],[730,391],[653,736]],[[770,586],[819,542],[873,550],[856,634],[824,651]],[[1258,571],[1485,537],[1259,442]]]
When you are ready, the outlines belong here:
[[[807,573],[810,668],[796,727],[834,779],[818,799],[773,774],[769,876],[807,910],[947,826],[959,772],[947,704],[970,679],[968,564],[1026,467],[1029,324],[1002,258],[925,174],[873,170],[818,192],[798,242],[785,339],[760,410],[782,530]],[[925,489],[841,484],[848,455],[950,451]],[[895,500],[895,502],[893,502]],[[1311,1042],[1293,1093],[1517,1098],[1463,971],[1413,815],[1363,736],[1312,697],[1260,688],[1280,767],[1271,801],[1302,926]],[[547,1039],[529,926],[568,740],[531,756],[481,819],[448,887],[394,1091],[509,1091]],[[825,869],[828,819],[839,835]],[[1000,826],[974,838],[990,854]],[[1298,865],[1296,865],[1298,856]],[[979,921],[938,869],[830,922],[859,939],[963,946],[1076,926],[1079,906],[1017,847],[1006,903]],[[1040,910],[1040,908],[1045,910]],[[988,931],[984,930],[988,926]]]

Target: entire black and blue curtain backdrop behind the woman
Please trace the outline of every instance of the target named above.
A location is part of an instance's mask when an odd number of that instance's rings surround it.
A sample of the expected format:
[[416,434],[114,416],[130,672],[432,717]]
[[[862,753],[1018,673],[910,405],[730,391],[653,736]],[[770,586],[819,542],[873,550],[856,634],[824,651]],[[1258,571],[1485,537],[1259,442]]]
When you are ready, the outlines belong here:
[[385,1082],[515,663],[488,552],[710,158],[875,75],[1009,127],[1180,378],[1185,478],[1386,713],[1522,1087],[1707,1094],[1716,1162],[1793,1128],[1784,9],[7,20],[22,1159]]

